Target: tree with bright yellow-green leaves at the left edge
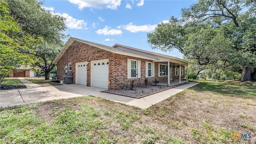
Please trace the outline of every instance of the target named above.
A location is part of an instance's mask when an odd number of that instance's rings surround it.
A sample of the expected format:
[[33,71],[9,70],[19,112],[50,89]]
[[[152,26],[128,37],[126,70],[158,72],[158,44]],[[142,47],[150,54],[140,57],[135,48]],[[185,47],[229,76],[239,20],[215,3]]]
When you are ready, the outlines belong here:
[[28,47],[38,46],[41,38],[33,38],[30,34],[20,34],[18,23],[10,16],[9,6],[5,0],[0,1],[0,84],[11,72],[26,62],[35,61],[20,50],[32,52]]

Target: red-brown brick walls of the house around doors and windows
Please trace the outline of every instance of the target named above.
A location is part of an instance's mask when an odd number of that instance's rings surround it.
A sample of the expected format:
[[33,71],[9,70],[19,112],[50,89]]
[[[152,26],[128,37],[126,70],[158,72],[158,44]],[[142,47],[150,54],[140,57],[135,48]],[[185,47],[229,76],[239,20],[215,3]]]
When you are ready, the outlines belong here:
[[[152,60],[146,60],[142,58],[136,58],[132,56],[125,56],[121,54],[114,54],[88,44],[79,43],[70,46],[68,52],[68,63],[72,63],[72,73],[74,75],[73,83],[76,83],[76,63],[89,62],[87,65],[87,86],[91,86],[91,61],[108,59],[109,71],[108,78],[110,80],[110,89],[117,90],[127,88],[130,85],[130,80],[136,80],[137,85],[144,85],[146,77],[146,62],[152,62]],[[141,61],[141,78],[127,78],[127,64],[128,59],[135,59]],[[57,63],[57,75],[58,79],[63,80],[63,74],[65,73],[64,67],[66,66],[66,53],[60,58]],[[155,77],[148,78],[149,84],[152,84],[154,79],[158,79],[159,82],[166,82],[168,76],[158,77],[158,64],[167,64],[167,62],[155,62]],[[175,69],[174,69],[175,70]],[[185,69],[184,69],[185,70]],[[173,77],[175,75],[173,71]],[[184,77],[184,75],[183,75]],[[174,77],[175,79],[176,77]]]

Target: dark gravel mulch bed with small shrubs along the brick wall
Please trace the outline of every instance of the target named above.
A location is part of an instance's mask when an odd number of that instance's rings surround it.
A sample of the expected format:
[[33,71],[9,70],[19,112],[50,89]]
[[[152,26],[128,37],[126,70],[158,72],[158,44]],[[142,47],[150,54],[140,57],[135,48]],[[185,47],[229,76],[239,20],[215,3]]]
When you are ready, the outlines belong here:
[[138,86],[136,87],[136,90],[130,90],[130,89],[121,89],[121,90],[104,90],[101,92],[106,92],[110,94],[117,94],[120,96],[128,96],[132,98],[143,98],[145,96],[149,96],[151,94],[155,94],[158,92],[162,92],[164,90],[168,90],[171,88],[176,88],[178,86],[182,86],[184,84],[188,84],[189,82],[184,82],[182,84],[176,84],[173,86],[160,86],[160,85],[148,85],[146,86]]

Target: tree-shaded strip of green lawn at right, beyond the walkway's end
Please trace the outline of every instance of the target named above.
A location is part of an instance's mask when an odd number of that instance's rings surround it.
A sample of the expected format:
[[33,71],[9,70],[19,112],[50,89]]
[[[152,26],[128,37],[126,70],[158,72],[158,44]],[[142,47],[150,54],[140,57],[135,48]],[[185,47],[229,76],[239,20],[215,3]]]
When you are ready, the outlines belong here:
[[240,98],[256,98],[256,88],[253,84],[236,84],[224,82],[202,82],[189,88],[198,92],[212,92],[224,96],[238,96]]

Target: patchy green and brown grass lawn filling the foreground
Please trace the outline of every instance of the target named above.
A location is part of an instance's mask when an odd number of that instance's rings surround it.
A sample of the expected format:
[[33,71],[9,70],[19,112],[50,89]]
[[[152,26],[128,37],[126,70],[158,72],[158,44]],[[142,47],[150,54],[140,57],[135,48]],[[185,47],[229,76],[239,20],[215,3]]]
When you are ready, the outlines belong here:
[[255,83],[203,82],[145,110],[88,96],[53,100],[0,109],[0,143],[251,144],[255,109]]

